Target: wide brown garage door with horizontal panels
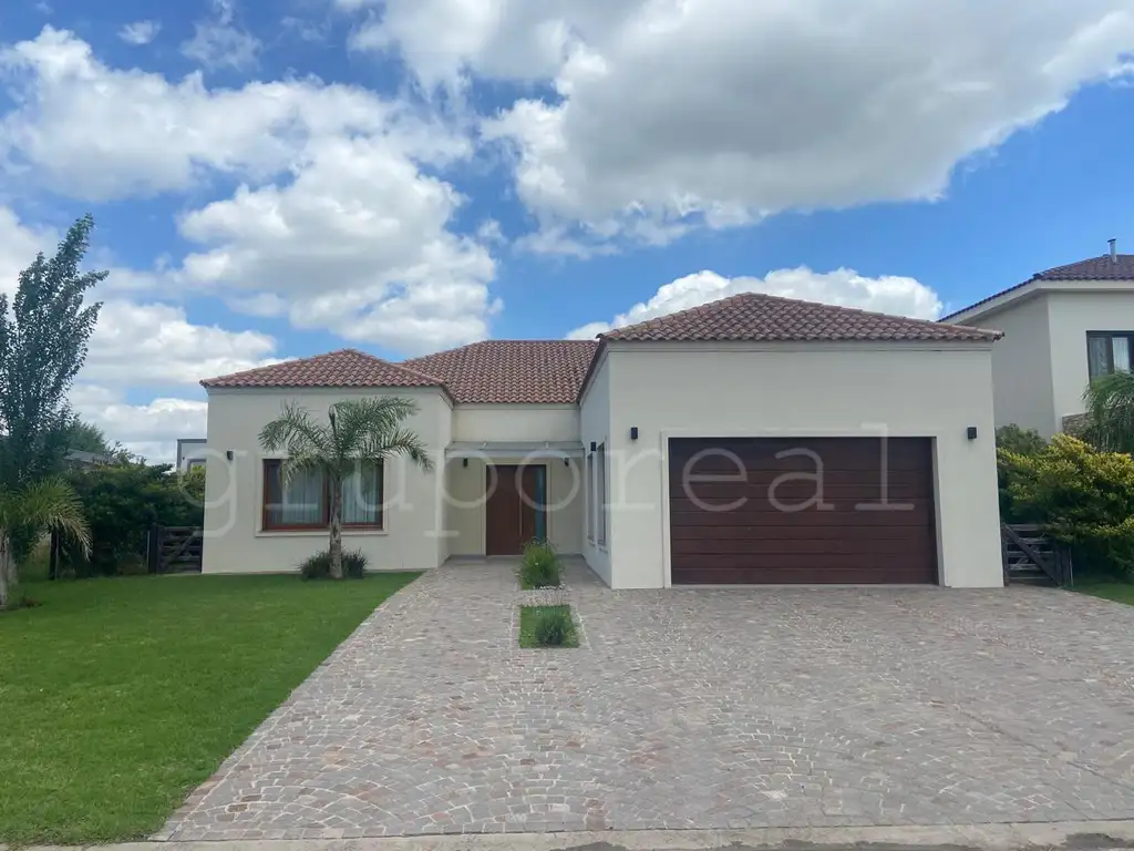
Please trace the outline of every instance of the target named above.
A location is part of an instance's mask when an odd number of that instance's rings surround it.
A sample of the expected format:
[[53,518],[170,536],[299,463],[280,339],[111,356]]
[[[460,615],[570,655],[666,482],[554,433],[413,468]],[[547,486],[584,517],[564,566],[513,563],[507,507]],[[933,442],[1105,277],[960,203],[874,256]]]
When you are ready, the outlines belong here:
[[929,439],[672,439],[669,452],[674,584],[937,581]]

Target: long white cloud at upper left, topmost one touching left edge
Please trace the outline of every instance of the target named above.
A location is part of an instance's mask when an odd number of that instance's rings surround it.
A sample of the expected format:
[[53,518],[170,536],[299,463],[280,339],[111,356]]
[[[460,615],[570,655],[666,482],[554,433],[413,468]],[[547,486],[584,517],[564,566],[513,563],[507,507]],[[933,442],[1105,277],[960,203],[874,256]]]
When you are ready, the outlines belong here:
[[0,49],[0,70],[17,103],[0,118],[10,182],[91,201],[185,191],[212,172],[269,179],[314,138],[404,120],[396,103],[313,78],[210,90],[200,74],[112,69],[51,27]]

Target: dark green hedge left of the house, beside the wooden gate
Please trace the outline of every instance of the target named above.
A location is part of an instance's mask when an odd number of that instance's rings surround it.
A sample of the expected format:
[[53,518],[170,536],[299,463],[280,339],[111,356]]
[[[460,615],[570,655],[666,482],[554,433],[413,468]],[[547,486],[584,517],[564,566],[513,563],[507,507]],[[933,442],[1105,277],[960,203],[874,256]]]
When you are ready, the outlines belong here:
[[[136,573],[153,524],[204,524],[204,473],[185,475],[169,464],[108,464],[68,473],[91,526],[91,557],[66,553],[64,568],[77,576]],[[64,547],[66,549],[66,542]],[[143,562],[144,564],[144,562]]]

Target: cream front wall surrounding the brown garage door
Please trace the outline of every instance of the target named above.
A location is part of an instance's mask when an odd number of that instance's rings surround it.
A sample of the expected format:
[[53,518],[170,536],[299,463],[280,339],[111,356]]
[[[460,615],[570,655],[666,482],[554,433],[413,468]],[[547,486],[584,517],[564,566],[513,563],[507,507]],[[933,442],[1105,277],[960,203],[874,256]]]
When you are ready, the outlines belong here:
[[613,588],[669,584],[668,438],[883,429],[933,439],[941,584],[1002,584],[989,346],[633,343],[610,347],[599,378],[609,378],[609,395],[598,380],[591,387],[583,439],[602,440],[609,429],[612,575],[601,558],[591,564]]

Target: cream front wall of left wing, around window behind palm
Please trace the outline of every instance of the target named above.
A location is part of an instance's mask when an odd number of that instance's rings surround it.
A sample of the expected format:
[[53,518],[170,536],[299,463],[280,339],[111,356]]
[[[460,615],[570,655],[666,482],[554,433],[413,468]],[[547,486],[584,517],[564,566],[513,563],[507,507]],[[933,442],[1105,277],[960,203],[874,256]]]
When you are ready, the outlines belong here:
[[[342,542],[366,554],[372,570],[435,567],[448,551],[441,517],[443,450],[451,438],[451,408],[438,390],[398,388],[359,393],[332,388],[295,391],[242,388],[209,394],[209,457],[205,481],[205,573],[279,573],[296,570],[307,556],[324,549],[327,531],[264,532],[262,525],[263,460],[259,433],[276,419],[285,401],[325,415],[335,402],[391,395],[413,398],[420,411],[407,427],[425,441],[437,465],[425,473],[405,460],[387,464],[382,532],[344,530]],[[234,460],[226,458],[226,452]]]

